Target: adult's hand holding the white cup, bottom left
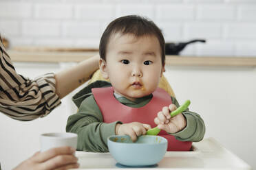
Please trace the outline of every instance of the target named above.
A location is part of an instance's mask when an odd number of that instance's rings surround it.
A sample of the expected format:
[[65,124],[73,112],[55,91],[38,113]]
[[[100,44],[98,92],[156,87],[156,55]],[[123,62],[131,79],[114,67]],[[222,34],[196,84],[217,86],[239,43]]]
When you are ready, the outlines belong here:
[[14,170],[50,170],[78,168],[78,158],[72,147],[56,147],[47,151],[37,151],[32,157],[21,162]]

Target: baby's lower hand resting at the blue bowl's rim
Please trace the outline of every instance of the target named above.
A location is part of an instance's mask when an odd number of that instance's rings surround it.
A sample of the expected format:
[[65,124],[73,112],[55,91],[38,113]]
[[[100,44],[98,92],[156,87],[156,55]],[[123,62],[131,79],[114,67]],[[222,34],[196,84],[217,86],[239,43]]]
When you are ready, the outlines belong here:
[[151,126],[148,124],[142,124],[139,122],[125,123],[125,124],[116,124],[116,134],[117,135],[129,135],[131,141],[135,142],[137,137],[146,134],[147,130],[151,129]]

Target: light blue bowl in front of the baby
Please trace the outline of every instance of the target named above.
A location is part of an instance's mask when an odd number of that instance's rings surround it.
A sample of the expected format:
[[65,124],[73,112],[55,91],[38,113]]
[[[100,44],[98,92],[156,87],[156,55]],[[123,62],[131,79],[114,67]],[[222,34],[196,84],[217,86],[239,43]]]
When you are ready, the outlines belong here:
[[140,136],[133,143],[129,136],[107,138],[110,154],[120,165],[145,167],[156,165],[167,151],[167,139],[161,136]]

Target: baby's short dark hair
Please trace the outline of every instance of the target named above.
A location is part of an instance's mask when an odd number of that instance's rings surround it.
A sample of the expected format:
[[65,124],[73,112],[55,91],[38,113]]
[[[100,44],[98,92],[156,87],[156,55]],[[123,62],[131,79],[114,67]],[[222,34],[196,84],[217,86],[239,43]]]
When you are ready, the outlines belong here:
[[121,34],[133,34],[136,37],[156,36],[162,52],[162,65],[164,65],[165,42],[161,30],[158,26],[156,26],[155,23],[153,23],[153,21],[137,15],[122,16],[107,25],[107,28],[103,32],[103,36],[101,36],[100,39],[100,58],[106,60],[107,43],[109,42],[109,38],[112,34],[119,32]]

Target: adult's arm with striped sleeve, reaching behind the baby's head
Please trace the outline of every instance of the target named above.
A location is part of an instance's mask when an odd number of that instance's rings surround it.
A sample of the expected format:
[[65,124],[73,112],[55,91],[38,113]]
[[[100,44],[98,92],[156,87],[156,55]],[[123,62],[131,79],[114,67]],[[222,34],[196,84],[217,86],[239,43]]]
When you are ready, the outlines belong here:
[[47,73],[30,80],[17,74],[0,35],[0,112],[21,121],[44,117],[61,104],[62,97],[86,82],[97,65],[94,57],[56,75]]

